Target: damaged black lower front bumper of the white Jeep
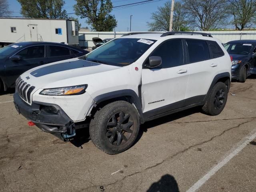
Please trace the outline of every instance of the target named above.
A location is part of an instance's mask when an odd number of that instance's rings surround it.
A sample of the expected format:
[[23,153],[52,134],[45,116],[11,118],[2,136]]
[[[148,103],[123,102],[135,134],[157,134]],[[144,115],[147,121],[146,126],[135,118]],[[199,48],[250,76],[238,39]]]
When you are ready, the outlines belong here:
[[[24,102],[17,92],[13,95],[14,105],[19,114],[34,122],[38,128],[49,133],[64,133],[71,135],[74,132],[74,122],[56,104],[33,101],[32,105]],[[55,109],[47,110],[48,107]]]

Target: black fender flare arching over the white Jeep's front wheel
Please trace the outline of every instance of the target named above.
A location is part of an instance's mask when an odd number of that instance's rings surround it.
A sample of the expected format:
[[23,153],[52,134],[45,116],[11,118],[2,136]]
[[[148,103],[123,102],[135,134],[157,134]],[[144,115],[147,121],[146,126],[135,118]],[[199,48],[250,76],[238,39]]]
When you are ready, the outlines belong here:
[[123,89],[123,90],[116,90],[113,92],[108,92],[101,94],[99,96],[96,96],[93,100],[96,104],[100,104],[101,102],[124,97],[124,96],[130,96],[132,99],[132,103],[136,106],[139,116],[140,116],[140,123],[144,123],[143,113],[142,113],[142,104],[140,102],[139,96],[134,92],[134,90],[131,89]]

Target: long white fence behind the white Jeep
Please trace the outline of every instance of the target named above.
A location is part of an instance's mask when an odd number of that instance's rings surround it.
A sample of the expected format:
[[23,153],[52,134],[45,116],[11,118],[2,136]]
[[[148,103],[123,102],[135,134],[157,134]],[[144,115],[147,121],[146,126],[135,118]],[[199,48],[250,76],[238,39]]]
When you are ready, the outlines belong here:
[[[203,31],[210,33],[214,38],[220,39],[222,43],[226,43],[232,40],[240,39],[253,39],[256,40],[256,31]],[[79,33],[79,46],[93,47],[93,37],[101,38],[102,40],[107,38],[117,38],[128,32],[80,32]]]

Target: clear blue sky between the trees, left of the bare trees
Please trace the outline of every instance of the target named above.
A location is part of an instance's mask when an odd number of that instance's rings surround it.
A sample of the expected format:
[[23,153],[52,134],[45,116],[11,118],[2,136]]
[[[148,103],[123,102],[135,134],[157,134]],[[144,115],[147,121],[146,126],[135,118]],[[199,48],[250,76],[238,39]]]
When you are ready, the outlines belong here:
[[[119,6],[124,4],[131,4],[136,2],[141,2],[144,0],[112,0],[113,6]],[[118,21],[116,31],[127,31],[127,28],[130,28],[130,15],[132,16],[132,31],[147,31],[148,26],[147,21],[150,21],[151,13],[157,10],[157,6],[163,6],[167,0],[154,0],[156,2],[150,2],[138,6],[131,6],[127,8],[115,8],[112,10],[112,14],[115,15],[116,20]],[[17,0],[8,0],[10,10],[13,11],[12,16],[21,16],[20,15],[20,4]],[[66,4],[64,9],[67,13],[73,13],[73,5],[76,4],[75,0],[65,0]],[[79,19],[79,22],[82,24],[82,27],[88,26],[85,23],[85,19],[80,19],[75,14],[72,15]],[[90,27],[90,26],[88,26]]]

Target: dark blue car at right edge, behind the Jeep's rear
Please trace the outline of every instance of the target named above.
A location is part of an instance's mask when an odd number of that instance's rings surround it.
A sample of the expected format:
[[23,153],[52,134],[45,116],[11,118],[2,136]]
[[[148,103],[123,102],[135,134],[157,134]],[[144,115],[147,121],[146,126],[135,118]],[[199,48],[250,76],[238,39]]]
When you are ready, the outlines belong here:
[[256,40],[236,40],[224,44],[232,58],[233,80],[245,82],[250,74],[256,74]]

